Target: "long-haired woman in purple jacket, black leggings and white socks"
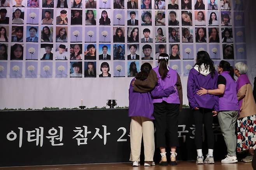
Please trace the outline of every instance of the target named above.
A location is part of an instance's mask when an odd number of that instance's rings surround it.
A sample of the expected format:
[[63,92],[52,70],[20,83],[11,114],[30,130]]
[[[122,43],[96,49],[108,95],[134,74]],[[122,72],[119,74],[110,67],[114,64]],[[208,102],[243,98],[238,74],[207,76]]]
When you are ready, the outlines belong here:
[[204,163],[214,163],[214,134],[212,130],[213,116],[219,111],[219,98],[212,94],[199,96],[196,91],[201,87],[205,89],[217,88],[218,74],[214,67],[214,62],[205,51],[200,51],[196,56],[196,64],[189,71],[187,83],[187,96],[189,106],[195,119],[195,143],[197,151],[196,164],[203,164],[202,153],[202,133],[203,122],[207,133],[208,154]]

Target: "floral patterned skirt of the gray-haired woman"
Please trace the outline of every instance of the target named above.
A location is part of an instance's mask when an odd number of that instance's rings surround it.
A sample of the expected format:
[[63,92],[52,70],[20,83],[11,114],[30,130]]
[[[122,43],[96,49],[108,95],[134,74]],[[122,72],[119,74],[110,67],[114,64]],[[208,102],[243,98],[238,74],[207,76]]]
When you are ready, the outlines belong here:
[[256,115],[237,119],[237,151],[256,149]]

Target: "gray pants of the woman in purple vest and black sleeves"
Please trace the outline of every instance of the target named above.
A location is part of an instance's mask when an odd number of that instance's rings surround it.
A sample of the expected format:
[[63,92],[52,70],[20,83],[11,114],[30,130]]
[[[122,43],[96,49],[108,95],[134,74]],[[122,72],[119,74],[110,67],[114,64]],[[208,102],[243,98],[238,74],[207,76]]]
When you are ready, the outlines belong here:
[[237,117],[238,111],[234,110],[218,113],[219,125],[228,149],[228,156],[236,156],[237,136],[235,134],[235,124]]

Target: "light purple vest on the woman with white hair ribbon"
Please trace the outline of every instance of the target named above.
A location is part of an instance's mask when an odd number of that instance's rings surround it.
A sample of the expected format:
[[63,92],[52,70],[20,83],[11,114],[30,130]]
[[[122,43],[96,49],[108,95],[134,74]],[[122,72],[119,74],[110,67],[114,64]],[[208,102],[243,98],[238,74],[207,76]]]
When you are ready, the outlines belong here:
[[[158,72],[158,69],[159,69],[159,66],[157,66],[153,69],[156,72],[157,78],[158,78],[158,84],[156,85],[155,88],[157,88],[157,86],[160,86],[161,89],[166,89],[170,86],[175,86],[175,84],[177,82],[176,70],[169,68],[167,76],[165,77],[165,79],[162,79]],[[167,98],[163,97],[160,99],[153,99],[153,103],[162,103],[162,101],[166,101],[167,103],[180,104],[179,94],[176,91],[175,93],[171,94]]]

